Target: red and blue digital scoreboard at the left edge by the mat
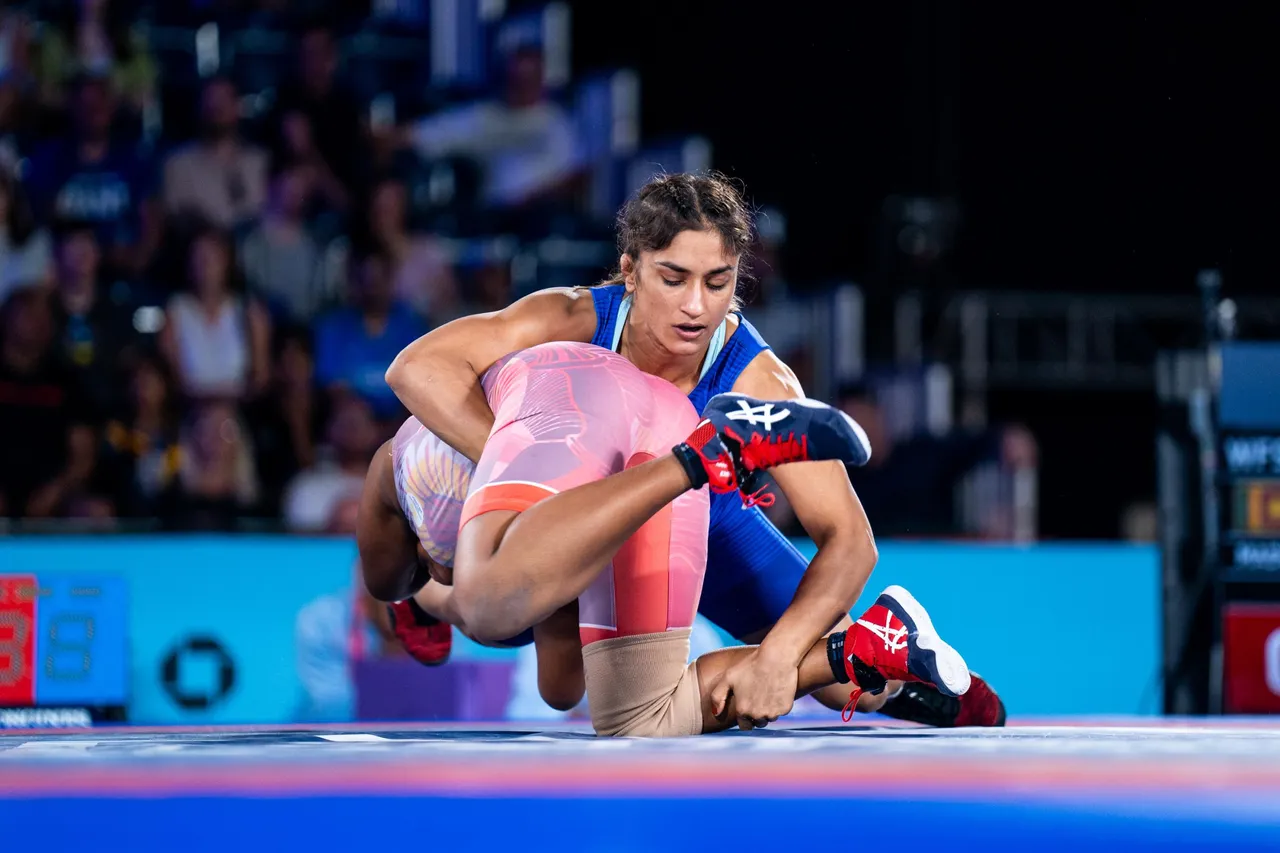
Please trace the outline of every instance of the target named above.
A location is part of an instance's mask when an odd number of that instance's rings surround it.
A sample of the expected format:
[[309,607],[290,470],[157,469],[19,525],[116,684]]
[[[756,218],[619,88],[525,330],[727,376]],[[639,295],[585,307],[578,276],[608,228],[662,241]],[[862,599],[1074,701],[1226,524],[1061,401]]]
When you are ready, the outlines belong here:
[[123,720],[127,617],[120,578],[0,574],[0,729]]

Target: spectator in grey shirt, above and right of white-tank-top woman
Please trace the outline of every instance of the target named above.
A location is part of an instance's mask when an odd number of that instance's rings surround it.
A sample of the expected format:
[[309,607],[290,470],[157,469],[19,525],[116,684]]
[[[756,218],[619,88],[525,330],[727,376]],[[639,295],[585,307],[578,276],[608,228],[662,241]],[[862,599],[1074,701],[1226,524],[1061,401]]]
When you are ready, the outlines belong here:
[[312,195],[311,169],[282,169],[271,181],[266,215],[241,247],[250,288],[282,323],[311,323],[342,295],[343,252],[335,242],[323,245],[307,229]]

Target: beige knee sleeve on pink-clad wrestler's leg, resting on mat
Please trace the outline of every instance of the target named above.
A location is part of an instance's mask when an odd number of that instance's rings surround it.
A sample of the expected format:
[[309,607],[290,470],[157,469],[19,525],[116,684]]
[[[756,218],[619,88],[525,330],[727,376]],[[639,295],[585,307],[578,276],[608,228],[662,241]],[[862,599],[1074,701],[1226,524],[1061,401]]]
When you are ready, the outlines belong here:
[[698,670],[690,629],[591,643],[582,649],[586,701],[595,734],[680,738],[701,734]]

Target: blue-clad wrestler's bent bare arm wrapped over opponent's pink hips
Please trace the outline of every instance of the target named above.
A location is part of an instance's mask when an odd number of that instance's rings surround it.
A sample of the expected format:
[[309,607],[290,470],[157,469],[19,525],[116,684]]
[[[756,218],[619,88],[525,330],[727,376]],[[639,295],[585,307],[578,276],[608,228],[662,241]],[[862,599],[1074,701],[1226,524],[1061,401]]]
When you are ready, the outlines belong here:
[[387,384],[424,426],[472,462],[493,428],[480,377],[509,352],[552,341],[588,342],[595,305],[586,289],[530,293],[503,309],[447,323],[404,347]]

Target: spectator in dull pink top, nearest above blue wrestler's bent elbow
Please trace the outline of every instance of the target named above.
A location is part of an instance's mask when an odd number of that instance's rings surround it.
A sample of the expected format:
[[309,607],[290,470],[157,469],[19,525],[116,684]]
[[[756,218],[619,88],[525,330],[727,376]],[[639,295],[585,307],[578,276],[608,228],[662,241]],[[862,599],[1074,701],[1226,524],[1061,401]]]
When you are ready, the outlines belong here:
[[392,263],[396,298],[434,321],[451,320],[458,311],[458,287],[453,266],[440,245],[429,234],[408,229],[408,190],[403,181],[384,177],[370,190],[365,210],[367,241]]

